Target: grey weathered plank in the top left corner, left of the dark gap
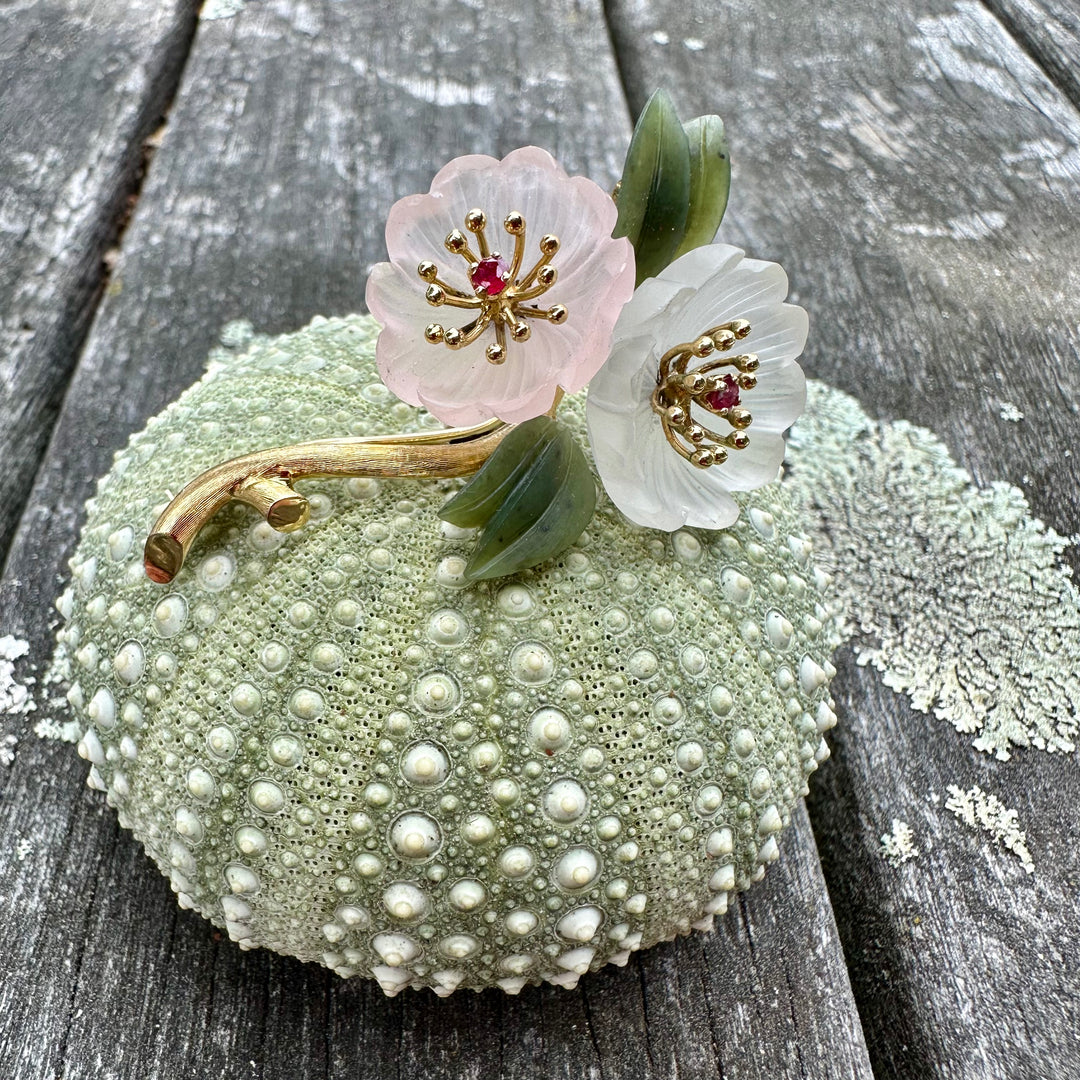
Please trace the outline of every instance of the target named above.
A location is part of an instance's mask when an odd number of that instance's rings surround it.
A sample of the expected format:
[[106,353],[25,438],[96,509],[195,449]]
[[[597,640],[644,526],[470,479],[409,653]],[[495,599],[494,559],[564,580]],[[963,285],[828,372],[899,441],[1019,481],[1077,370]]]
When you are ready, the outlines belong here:
[[0,564],[197,9],[38,0],[0,10]]

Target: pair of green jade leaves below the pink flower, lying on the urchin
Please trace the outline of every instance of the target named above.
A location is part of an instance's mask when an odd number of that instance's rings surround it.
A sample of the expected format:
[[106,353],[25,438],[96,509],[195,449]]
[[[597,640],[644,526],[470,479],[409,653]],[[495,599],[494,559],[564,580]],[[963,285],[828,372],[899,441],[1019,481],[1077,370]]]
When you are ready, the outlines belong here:
[[518,424],[440,511],[482,526],[465,566],[470,581],[500,578],[565,551],[596,509],[596,484],[570,430],[549,416]]

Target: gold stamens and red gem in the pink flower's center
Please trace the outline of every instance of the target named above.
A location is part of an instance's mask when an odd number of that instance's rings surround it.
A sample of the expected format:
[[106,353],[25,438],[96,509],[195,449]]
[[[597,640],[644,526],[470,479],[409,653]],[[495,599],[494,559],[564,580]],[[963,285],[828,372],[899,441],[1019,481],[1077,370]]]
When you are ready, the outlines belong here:
[[442,342],[449,349],[463,349],[491,328],[495,330],[495,340],[488,343],[485,351],[490,363],[501,364],[507,359],[508,335],[514,341],[529,339],[532,333],[529,319],[544,319],[555,325],[566,322],[567,311],[562,303],[550,308],[538,308],[529,303],[546,293],[558,278],[558,271],[550,265],[558,251],[558,237],[544,233],[540,238],[540,257],[523,274],[525,218],[513,211],[507,215],[502,227],[514,238],[514,254],[509,262],[488,247],[485,231],[487,218],[482,210],[471,210],[465,214],[465,229],[475,235],[478,254],[472,249],[460,229],[454,229],[444,242],[451,255],[460,255],[469,265],[471,295],[443,281],[434,262],[424,261],[417,267],[417,273],[428,282],[424,295],[433,308],[446,306],[475,312],[472,322],[464,326],[444,327],[442,323],[431,323],[423,332],[424,340],[429,343]]

